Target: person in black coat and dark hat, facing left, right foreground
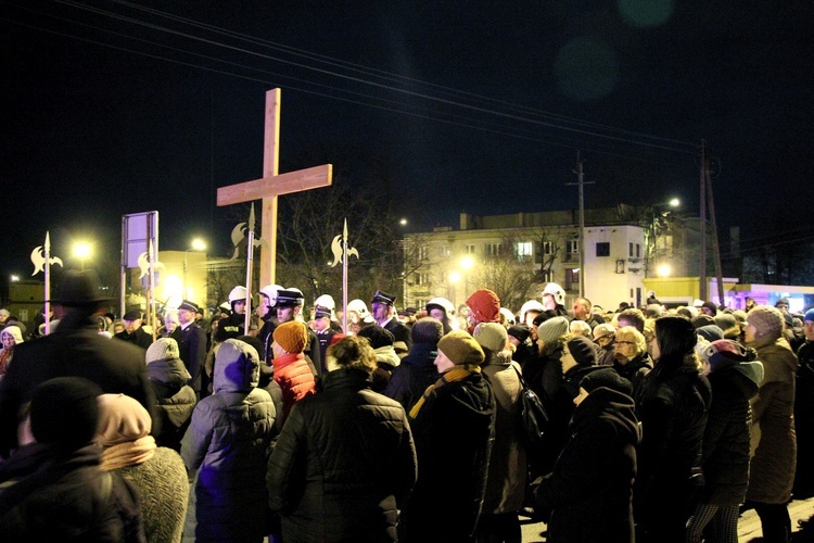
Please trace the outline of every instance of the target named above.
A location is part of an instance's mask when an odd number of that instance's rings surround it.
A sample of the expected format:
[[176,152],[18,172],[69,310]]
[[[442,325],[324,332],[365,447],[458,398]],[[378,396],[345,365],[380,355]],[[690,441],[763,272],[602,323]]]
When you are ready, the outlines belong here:
[[639,429],[629,387],[608,367],[580,382],[568,442],[533,488],[534,509],[552,541],[633,541]]

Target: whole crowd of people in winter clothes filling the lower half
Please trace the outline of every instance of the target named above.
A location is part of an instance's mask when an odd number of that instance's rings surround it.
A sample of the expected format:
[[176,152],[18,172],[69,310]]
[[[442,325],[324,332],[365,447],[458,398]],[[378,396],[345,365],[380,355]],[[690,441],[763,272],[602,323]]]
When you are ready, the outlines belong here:
[[198,541],[520,542],[529,516],[555,543],[736,542],[754,508],[787,542],[814,494],[814,310],[786,300],[377,291],[343,329],[332,296],[277,285],[246,319],[238,286],[153,333],[138,311],[114,331],[102,292],[68,273],[37,334],[0,311],[3,541],[180,541],[192,514]]

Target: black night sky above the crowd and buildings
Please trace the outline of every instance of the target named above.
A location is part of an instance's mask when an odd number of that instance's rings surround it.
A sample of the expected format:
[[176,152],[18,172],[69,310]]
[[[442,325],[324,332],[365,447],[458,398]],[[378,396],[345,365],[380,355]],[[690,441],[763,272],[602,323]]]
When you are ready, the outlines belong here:
[[46,230],[68,265],[74,239],[117,254],[122,215],[153,210],[162,249],[202,236],[227,255],[216,189],[260,176],[274,87],[280,172],[376,163],[414,231],[575,209],[577,151],[586,207],[697,214],[703,139],[722,232],[814,235],[814,2],[0,8],[3,276],[30,276]]

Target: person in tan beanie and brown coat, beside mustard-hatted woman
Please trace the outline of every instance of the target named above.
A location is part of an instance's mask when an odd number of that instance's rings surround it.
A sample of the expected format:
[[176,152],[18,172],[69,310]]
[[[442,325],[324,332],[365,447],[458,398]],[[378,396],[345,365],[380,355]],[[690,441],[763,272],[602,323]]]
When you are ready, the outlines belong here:
[[[525,325],[523,325],[525,326]],[[481,368],[495,394],[495,441],[489,457],[486,493],[476,539],[483,541],[519,540],[520,518],[526,482],[526,451],[520,427],[520,365],[511,359],[507,348],[509,334],[503,325],[481,323],[474,339],[486,356]]]

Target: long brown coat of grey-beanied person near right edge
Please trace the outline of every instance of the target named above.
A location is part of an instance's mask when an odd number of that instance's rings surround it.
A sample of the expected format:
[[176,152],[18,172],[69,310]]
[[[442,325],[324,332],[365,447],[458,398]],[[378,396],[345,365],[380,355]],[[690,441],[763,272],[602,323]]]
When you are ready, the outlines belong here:
[[752,418],[760,425],[760,442],[750,465],[747,498],[785,504],[791,497],[797,466],[793,411],[799,364],[783,338],[756,349],[764,370],[760,393],[752,399]]

